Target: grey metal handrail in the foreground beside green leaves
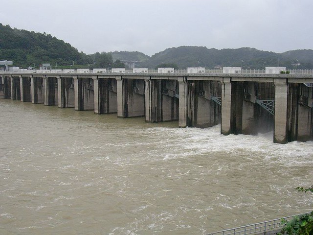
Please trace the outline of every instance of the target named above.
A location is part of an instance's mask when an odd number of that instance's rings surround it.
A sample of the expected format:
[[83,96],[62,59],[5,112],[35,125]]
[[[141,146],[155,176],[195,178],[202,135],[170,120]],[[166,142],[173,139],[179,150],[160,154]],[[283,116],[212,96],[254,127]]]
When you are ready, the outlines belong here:
[[256,224],[250,224],[250,225],[237,227],[237,228],[233,228],[233,229],[226,229],[226,230],[223,230],[220,232],[215,232],[215,233],[206,234],[206,235],[248,235],[248,234],[256,235],[256,234],[261,234],[261,233],[266,234],[266,232],[270,232],[270,231],[277,230],[279,228],[283,228],[284,224],[282,223],[282,219],[285,219],[288,221],[288,220],[292,219],[294,216],[305,215],[305,214],[309,214],[309,213],[311,213],[311,212],[291,215],[291,216],[283,217],[280,219],[273,219],[273,220],[260,222],[260,223],[256,223]]

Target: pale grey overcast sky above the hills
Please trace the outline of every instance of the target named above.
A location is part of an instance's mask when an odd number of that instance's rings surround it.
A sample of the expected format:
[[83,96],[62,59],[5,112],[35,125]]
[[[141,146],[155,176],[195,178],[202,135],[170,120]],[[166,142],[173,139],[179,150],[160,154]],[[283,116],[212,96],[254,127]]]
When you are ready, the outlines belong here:
[[313,0],[1,0],[0,23],[46,32],[87,54],[313,49]]

